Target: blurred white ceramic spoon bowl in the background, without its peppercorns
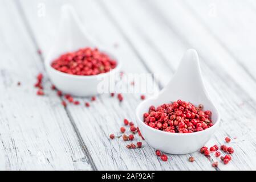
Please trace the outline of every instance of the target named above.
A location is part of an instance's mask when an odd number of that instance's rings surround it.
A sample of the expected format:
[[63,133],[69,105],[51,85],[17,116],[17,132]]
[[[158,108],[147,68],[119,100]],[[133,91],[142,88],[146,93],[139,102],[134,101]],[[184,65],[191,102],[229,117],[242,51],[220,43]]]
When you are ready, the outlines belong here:
[[[110,72],[101,73],[94,76],[70,75],[57,71],[51,67],[54,59],[66,52],[76,51],[79,48],[92,47],[99,48],[101,52],[106,53],[112,59],[117,61],[117,67]],[[46,71],[50,76],[52,83],[62,90],[74,96],[92,96],[99,94],[97,85],[107,77],[119,72],[121,64],[116,55],[113,55],[109,48],[103,48],[95,43],[95,40],[84,30],[75,10],[70,5],[62,6],[62,16],[60,20],[59,32],[57,38],[44,60]]]

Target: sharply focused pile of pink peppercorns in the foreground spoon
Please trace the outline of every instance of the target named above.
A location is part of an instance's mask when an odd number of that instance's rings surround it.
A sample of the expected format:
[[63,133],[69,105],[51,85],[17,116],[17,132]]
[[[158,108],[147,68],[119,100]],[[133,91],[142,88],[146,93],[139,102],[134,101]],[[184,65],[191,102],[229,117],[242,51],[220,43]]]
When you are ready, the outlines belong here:
[[157,108],[149,107],[144,113],[144,123],[154,129],[170,133],[193,133],[213,126],[209,110],[204,111],[202,104],[197,107],[190,102],[177,100],[162,104]]

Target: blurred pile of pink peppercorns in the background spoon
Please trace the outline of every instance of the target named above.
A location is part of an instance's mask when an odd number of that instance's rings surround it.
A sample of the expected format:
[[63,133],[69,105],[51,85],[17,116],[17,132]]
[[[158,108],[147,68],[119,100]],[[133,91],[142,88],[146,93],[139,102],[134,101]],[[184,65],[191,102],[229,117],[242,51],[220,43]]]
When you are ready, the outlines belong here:
[[60,72],[82,76],[106,73],[116,65],[116,61],[108,55],[90,47],[65,53],[51,63],[51,67]]

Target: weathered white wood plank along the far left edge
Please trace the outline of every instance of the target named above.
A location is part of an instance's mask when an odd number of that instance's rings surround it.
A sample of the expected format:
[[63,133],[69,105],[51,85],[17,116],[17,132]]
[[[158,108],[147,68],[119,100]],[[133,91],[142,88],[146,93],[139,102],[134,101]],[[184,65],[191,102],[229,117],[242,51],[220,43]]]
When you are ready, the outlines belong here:
[[16,5],[0,1],[0,9],[0,169],[92,169],[48,81],[46,96],[36,96],[43,67]]

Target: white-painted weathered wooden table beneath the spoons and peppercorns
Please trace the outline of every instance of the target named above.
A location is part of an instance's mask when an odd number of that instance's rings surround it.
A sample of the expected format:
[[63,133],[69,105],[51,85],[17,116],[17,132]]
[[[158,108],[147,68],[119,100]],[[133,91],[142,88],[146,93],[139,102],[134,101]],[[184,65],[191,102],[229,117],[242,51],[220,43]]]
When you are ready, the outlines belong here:
[[[229,136],[233,160],[213,168],[214,157],[194,152],[162,162],[145,142],[140,150],[128,150],[122,140],[109,140],[124,118],[136,120],[140,94],[124,94],[121,104],[105,94],[91,107],[64,108],[43,68],[64,3],[75,7],[99,43],[115,47],[125,73],[160,73],[160,89],[184,51],[197,49],[222,118],[208,146]],[[0,169],[256,169],[255,22],[253,0],[0,0]],[[43,97],[33,86],[39,72],[46,76]]]

